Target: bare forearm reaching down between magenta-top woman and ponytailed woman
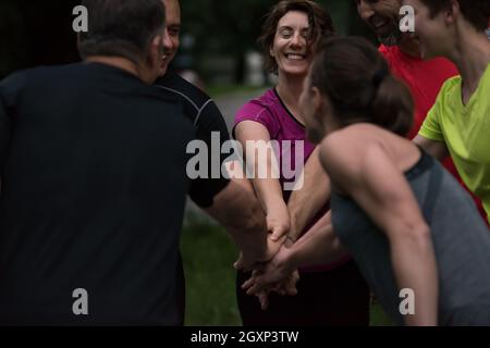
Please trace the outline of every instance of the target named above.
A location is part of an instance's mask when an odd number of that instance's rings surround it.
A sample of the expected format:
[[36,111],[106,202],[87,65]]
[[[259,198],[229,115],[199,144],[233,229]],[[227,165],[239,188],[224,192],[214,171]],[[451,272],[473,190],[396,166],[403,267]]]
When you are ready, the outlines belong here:
[[287,209],[291,216],[289,236],[296,240],[308,222],[330,199],[330,179],[320,163],[317,147],[303,170],[303,188],[291,194]]

